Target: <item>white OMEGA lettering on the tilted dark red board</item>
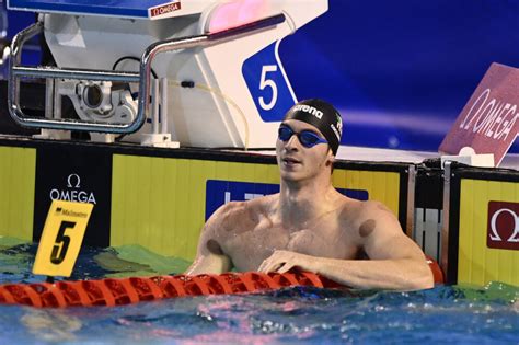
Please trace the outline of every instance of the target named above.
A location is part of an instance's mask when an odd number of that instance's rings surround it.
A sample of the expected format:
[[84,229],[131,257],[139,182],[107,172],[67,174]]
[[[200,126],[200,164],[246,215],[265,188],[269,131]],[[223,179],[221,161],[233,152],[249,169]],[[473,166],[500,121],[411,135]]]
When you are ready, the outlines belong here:
[[460,124],[460,128],[505,141],[519,117],[517,104],[505,104],[496,99],[488,101],[489,94],[491,89],[485,89],[481,93]]

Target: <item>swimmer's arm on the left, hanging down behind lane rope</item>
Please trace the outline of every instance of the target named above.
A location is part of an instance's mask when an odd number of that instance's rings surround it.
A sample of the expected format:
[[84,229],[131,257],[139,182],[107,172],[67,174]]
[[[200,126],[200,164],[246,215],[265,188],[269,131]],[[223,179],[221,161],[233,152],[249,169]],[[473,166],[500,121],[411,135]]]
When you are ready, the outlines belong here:
[[206,222],[198,240],[195,261],[185,274],[221,274],[232,268],[232,262],[221,250],[224,241],[221,227],[229,206],[220,207]]

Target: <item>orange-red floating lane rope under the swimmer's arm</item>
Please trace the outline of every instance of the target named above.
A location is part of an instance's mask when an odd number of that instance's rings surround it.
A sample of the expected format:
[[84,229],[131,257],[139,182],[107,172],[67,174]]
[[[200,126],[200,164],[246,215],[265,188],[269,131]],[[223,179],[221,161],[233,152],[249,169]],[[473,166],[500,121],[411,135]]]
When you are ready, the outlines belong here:
[[[435,283],[443,283],[438,264],[428,258]],[[0,303],[37,308],[122,306],[183,296],[255,292],[289,286],[339,288],[335,281],[309,272],[290,273],[224,273],[221,275],[155,276],[5,284],[0,285]]]

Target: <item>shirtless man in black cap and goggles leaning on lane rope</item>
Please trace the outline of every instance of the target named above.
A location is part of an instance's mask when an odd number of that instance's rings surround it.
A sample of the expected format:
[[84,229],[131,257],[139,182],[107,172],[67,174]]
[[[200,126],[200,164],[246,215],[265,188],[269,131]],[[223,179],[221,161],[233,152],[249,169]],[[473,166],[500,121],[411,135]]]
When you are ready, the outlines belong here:
[[187,274],[309,271],[351,288],[434,286],[422,250],[378,202],[332,186],[338,112],[321,100],[292,106],[279,126],[280,192],[221,206],[205,225]]

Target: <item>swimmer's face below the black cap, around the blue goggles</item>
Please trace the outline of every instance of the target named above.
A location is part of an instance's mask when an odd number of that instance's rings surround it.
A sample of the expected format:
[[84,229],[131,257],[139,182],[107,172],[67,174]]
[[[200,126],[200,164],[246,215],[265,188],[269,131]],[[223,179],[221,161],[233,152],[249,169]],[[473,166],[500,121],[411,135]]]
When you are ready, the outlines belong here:
[[[304,147],[296,134],[302,130],[310,130],[319,137],[324,138],[321,131],[307,123],[288,119],[282,122],[290,127],[295,135],[287,141],[279,138],[276,142],[276,157],[282,180],[302,181],[312,179],[320,173],[330,175],[330,168],[333,162],[333,153],[327,143],[318,143],[311,148]],[[327,162],[330,162],[327,164]]]

